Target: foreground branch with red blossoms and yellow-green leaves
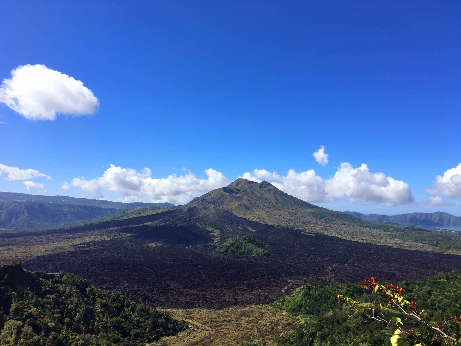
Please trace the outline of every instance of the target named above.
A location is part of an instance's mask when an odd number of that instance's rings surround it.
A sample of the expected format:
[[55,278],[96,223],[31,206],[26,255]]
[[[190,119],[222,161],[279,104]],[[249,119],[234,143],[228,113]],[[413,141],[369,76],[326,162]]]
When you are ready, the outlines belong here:
[[[386,327],[395,324],[395,333],[390,337],[392,346],[399,345],[402,335],[406,335],[415,346],[461,345],[461,317],[458,314],[450,318],[440,315],[442,320],[436,326],[428,321],[427,312],[421,310],[415,301],[410,302],[402,296],[403,288],[378,284],[373,277],[360,283],[372,294],[370,301],[359,303],[343,295],[335,296],[335,300],[347,304],[354,311],[351,316],[361,313],[371,320],[385,323]],[[404,323],[411,324],[411,328],[404,328]]]

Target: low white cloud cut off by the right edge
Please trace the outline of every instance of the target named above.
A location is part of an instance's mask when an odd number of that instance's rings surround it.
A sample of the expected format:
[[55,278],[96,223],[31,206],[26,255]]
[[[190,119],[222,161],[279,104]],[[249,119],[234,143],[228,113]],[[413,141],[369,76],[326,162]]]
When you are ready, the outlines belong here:
[[[434,185],[426,190],[428,194],[428,200],[441,201],[444,196],[451,199],[461,198],[461,163],[450,168],[443,175],[437,175],[435,178]],[[445,203],[450,203],[444,200]],[[447,204],[436,204],[436,205],[447,205]]]

